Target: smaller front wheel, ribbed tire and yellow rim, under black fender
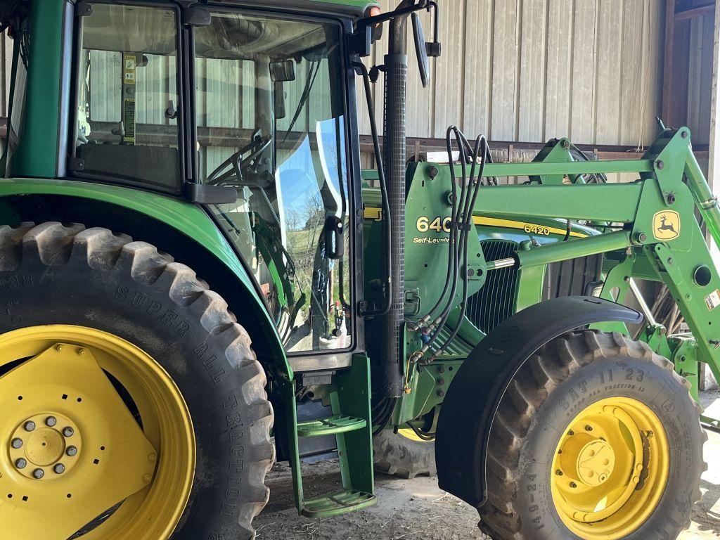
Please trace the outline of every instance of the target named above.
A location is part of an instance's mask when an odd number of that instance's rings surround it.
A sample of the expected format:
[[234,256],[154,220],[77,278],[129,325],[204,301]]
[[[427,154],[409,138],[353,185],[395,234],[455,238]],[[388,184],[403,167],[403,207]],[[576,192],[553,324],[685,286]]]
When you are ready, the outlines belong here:
[[494,540],[675,539],[701,497],[690,384],[647,344],[567,333],[500,403],[480,528]]

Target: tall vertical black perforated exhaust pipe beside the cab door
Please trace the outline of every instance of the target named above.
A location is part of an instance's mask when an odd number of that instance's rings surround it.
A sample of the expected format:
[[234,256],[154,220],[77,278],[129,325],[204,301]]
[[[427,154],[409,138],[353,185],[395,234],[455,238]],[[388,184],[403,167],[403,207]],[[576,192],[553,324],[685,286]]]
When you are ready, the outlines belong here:
[[[404,0],[399,8],[413,5]],[[381,320],[384,333],[380,348],[381,363],[374,381],[376,397],[402,395],[402,326],[405,310],[405,91],[408,83],[408,15],[399,15],[390,22],[390,48],[384,58],[385,104],[383,126],[383,162],[387,195],[392,215],[390,268],[390,311]]]

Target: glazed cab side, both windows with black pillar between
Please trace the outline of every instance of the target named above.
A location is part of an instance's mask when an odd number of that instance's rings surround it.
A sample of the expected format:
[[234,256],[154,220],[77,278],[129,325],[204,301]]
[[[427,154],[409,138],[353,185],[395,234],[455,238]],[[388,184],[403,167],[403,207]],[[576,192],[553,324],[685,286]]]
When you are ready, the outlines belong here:
[[71,175],[215,194],[202,202],[287,351],[350,348],[341,21],[208,8],[181,24],[168,6],[88,6]]

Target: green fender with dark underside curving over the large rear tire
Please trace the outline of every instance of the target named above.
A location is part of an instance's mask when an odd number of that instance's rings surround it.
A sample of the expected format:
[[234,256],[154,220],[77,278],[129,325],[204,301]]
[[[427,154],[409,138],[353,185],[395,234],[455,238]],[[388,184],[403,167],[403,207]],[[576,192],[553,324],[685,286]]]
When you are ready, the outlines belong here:
[[[57,212],[37,211],[45,220],[77,220],[89,226],[103,226],[146,240],[196,270],[225,297],[238,315],[252,316],[261,336],[256,346],[278,366],[284,376],[293,373],[266,310],[256,283],[243,262],[202,207],[161,194],[108,184],[58,179],[0,179],[2,222],[38,220],[35,204],[28,199],[52,202]],[[28,210],[31,208],[32,210]],[[174,238],[170,238],[174,237]],[[210,261],[207,255],[210,255]],[[220,270],[218,270],[220,269]],[[240,294],[245,291],[246,294]],[[249,302],[249,303],[248,303]],[[261,338],[261,343],[258,343]]]

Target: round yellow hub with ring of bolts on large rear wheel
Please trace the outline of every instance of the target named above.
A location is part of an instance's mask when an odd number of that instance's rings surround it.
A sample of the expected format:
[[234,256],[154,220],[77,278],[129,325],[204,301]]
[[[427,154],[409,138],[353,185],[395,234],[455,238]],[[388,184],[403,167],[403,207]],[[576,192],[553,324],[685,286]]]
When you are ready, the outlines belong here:
[[9,439],[10,461],[30,480],[56,480],[78,463],[82,436],[75,422],[60,413],[24,418]]

